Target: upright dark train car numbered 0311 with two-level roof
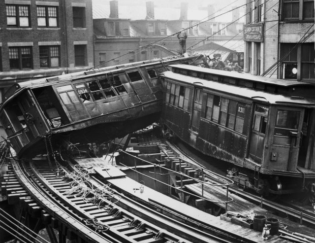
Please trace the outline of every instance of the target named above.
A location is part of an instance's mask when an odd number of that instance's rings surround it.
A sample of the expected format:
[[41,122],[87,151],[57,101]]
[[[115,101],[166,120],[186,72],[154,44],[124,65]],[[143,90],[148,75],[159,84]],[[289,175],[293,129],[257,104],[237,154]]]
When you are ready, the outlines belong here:
[[315,182],[314,84],[169,68],[160,74],[162,120],[175,136],[232,163],[229,176],[259,193],[292,193]]

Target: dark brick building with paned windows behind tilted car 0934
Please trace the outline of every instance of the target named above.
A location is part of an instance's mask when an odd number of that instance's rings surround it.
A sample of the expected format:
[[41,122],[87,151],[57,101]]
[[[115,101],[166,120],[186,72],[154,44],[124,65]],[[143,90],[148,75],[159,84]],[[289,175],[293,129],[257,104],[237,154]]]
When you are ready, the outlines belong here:
[[14,82],[93,66],[92,0],[1,0],[0,10],[0,101]]

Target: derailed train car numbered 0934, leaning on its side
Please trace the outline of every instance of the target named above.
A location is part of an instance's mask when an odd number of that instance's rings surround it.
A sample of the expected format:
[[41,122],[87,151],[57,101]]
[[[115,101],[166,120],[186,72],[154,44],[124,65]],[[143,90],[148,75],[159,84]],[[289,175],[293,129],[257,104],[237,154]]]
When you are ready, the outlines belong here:
[[[139,130],[158,119],[158,72],[199,56],[114,66],[17,83],[5,94],[0,122],[18,157],[51,142],[99,143]],[[104,125],[106,124],[106,125]]]

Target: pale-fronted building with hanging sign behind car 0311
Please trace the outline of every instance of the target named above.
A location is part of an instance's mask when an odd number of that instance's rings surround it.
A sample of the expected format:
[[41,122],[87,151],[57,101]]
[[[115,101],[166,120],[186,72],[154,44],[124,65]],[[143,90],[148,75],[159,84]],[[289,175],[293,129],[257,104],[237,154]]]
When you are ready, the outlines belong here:
[[315,81],[314,0],[247,2],[245,71]]

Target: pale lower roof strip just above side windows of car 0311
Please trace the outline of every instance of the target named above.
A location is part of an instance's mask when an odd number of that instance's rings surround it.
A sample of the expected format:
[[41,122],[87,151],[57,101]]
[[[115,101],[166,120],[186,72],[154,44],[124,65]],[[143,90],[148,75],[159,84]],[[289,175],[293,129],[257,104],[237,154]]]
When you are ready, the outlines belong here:
[[231,84],[219,83],[216,81],[205,80],[202,78],[187,76],[184,74],[165,71],[160,74],[166,78],[189,84],[202,89],[217,91],[222,94],[234,95],[252,101],[267,103],[267,104],[288,104],[296,106],[315,107],[315,99],[304,97],[290,97],[279,94],[267,93],[260,90],[254,90],[247,87],[238,87]]

